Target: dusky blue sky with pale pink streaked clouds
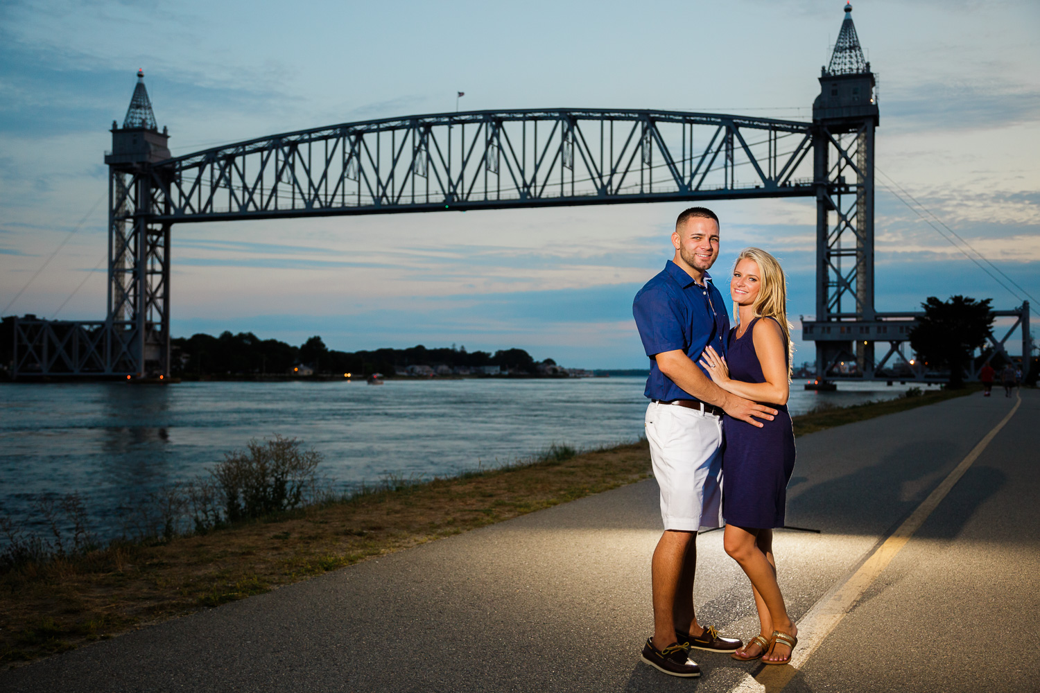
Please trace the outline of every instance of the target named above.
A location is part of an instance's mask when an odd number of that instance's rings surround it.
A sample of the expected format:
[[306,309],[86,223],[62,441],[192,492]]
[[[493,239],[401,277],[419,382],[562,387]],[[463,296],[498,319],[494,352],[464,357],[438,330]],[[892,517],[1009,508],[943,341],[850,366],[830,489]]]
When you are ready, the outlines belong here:
[[[175,156],[453,110],[457,91],[463,110],[808,119],[843,5],[0,0],[0,309],[104,317],[103,153],[138,68]],[[879,80],[878,310],[953,294],[1007,310],[1040,297],[1040,3],[860,0],[853,18]],[[900,188],[1019,286],[966,259],[890,191]],[[811,316],[813,202],[709,206],[722,219],[713,274],[724,294],[733,256],[758,245],[787,271],[796,326]],[[320,335],[348,351],[520,347],[566,366],[645,368],[631,299],[671,257],[683,207],[175,225],[172,331],[292,344]],[[810,361],[799,336],[796,362]]]

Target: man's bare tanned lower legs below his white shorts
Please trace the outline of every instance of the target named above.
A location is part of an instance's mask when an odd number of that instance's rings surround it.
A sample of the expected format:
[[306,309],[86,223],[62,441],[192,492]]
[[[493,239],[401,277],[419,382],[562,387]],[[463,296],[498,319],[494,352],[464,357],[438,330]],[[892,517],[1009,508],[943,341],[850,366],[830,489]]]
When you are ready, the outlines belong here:
[[[697,532],[665,530],[653,552],[653,646],[664,649],[675,642],[675,629],[696,624],[694,574]],[[696,625],[695,625],[696,628]],[[700,631],[699,628],[696,628]]]

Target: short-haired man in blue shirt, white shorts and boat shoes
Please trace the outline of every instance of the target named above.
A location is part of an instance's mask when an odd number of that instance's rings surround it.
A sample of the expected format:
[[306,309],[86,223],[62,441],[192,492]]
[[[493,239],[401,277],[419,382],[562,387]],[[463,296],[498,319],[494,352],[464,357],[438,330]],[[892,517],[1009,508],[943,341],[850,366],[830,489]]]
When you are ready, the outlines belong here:
[[708,345],[725,353],[729,317],[707,270],[719,257],[719,217],[703,207],[679,215],[675,257],[635,294],[632,314],[650,377],[646,433],[660,486],[665,532],[651,563],[654,634],[641,659],[673,676],[698,676],[691,647],[729,652],[743,643],[702,627],[694,613],[697,531],[722,526],[722,414],[761,427],[776,409],[731,395],[698,365]]

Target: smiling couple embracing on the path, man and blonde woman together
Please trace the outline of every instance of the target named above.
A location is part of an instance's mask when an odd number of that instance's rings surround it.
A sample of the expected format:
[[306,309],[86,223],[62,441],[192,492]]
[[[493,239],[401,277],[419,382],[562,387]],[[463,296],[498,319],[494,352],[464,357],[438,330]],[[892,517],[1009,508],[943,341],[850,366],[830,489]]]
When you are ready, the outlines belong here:
[[[777,584],[773,529],[783,527],[795,435],[787,414],[790,331],[783,270],[746,248],[730,279],[736,326],[707,270],[719,217],[694,207],[672,234],[675,257],[635,295],[632,313],[651,359],[646,434],[665,532],[651,564],[654,633],[642,660],[698,676],[692,648],[786,664],[798,644]],[[725,525],[723,543],[751,580],[759,635],[747,644],[694,611],[697,533]]]

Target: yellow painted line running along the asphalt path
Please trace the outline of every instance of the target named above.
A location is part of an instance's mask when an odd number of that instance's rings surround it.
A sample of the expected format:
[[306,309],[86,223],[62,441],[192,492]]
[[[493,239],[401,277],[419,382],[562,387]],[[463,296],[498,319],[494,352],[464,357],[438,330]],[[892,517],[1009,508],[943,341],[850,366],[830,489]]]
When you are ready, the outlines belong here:
[[994,426],[979,442],[979,445],[971,449],[967,457],[961,460],[961,463],[954,468],[954,471],[942,480],[942,483],[935,487],[935,490],[929,494],[928,498],[900,525],[899,529],[870,554],[859,569],[849,580],[840,585],[836,585],[812,606],[802,620],[798,622],[798,647],[795,648],[790,664],[788,666],[762,665],[761,670],[753,681],[750,676],[745,678],[734,689],[735,691],[761,691],[762,687],[764,687],[768,693],[778,693],[790,683],[790,679],[798,674],[809,657],[823,644],[824,639],[831,634],[841,619],[844,618],[844,615],[856,606],[863,592],[877,580],[882,570],[892,562],[892,559],[906,545],[913,533],[925,524],[925,521],[932,514],[932,511],[938,507],[942,499],[946,497],[954,485],[964,476],[964,473],[979,458],[979,455],[986,449],[986,446],[1011,421],[1011,417],[1015,416],[1015,411],[1018,410],[1021,403],[1022,396],[1019,394],[1015,405],[1008,412],[1008,416]]

